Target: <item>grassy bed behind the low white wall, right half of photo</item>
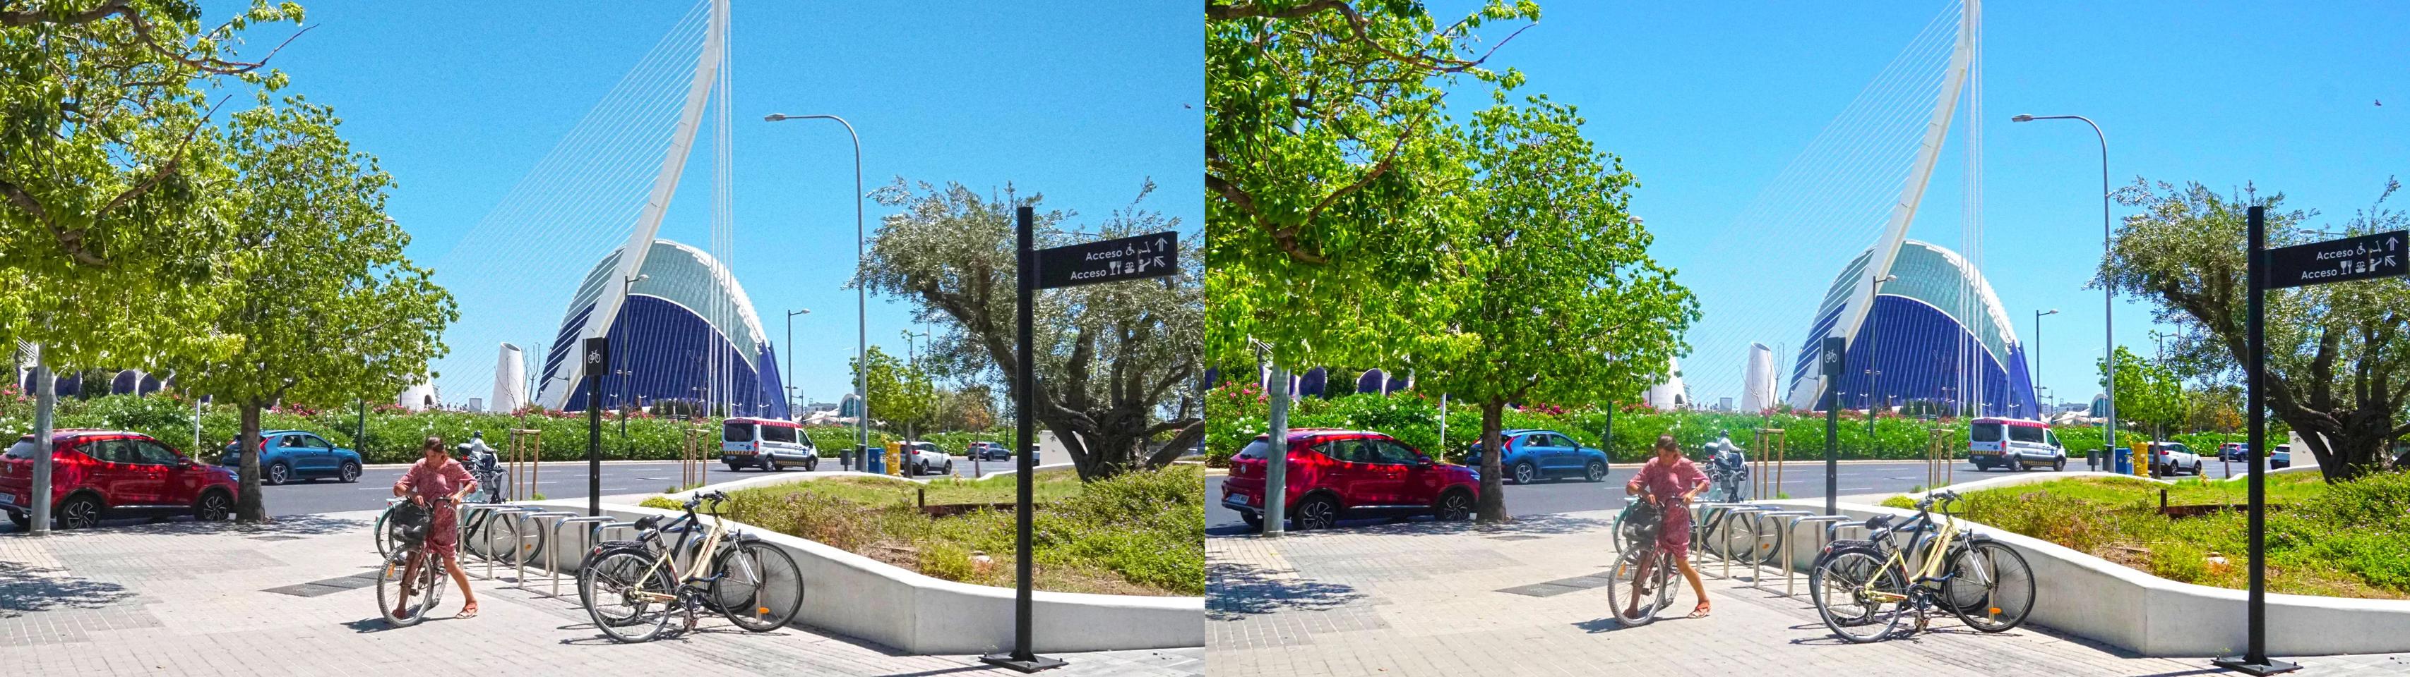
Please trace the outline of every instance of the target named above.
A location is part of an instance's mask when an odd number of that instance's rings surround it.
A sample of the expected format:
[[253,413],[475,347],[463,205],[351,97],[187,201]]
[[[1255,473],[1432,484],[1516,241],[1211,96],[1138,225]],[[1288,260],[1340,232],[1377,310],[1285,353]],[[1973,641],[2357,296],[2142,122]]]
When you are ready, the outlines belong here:
[[[2152,576],[2249,585],[2246,516],[2159,516],[2155,482],[2056,479],[1964,494],[1959,518],[2041,537]],[[2169,506],[2246,504],[2241,482],[2176,482]],[[1911,508],[1906,496],[1882,501]],[[2330,597],[2410,597],[2410,475],[2326,484],[2314,472],[2268,475],[2268,590]]]

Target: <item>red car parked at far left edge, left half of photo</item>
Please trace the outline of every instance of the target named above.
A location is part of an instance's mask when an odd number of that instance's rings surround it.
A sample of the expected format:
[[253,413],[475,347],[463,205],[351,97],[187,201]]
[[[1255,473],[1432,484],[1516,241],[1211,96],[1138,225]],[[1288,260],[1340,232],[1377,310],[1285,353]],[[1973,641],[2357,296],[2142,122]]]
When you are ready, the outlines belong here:
[[[234,472],[195,463],[130,431],[60,429],[51,434],[51,518],[55,528],[94,528],[133,513],[234,516]],[[0,455],[0,511],[24,530],[34,523],[34,436]]]

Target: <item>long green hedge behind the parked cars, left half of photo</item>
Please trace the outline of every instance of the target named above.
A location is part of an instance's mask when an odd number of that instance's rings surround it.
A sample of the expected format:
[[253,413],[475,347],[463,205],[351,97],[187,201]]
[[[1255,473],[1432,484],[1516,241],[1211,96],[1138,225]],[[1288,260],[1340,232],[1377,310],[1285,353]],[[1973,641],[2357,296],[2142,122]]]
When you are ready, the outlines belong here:
[[[195,453],[193,446],[193,400],[181,395],[108,395],[92,400],[63,398],[55,410],[53,426],[60,429],[130,429],[174,448]],[[605,460],[675,460],[684,446],[684,422],[672,422],[665,417],[636,414],[627,419],[627,434],[622,436],[619,422],[605,412],[602,414],[602,458]],[[706,458],[718,455],[721,426],[718,419],[701,422],[704,436],[696,441]],[[0,388],[0,429],[14,434],[34,431],[34,400],[19,395],[14,388]],[[410,463],[419,458],[419,443],[427,436],[441,436],[446,446],[468,441],[470,431],[484,431],[484,438],[494,451],[506,451],[511,429],[537,429],[542,460],[583,460],[586,458],[586,414],[528,414],[525,419],[513,414],[494,412],[410,412],[402,407],[374,407],[369,410],[366,438],[354,438],[359,431],[359,410],[270,410],[260,412],[260,429],[304,429],[325,436],[337,446],[359,451],[366,463]],[[217,460],[217,448],[231,441],[241,431],[241,417],[234,407],[210,405],[200,414],[200,460]],[[836,458],[839,451],[853,448],[851,426],[810,426],[805,436],[819,448],[819,455]],[[899,441],[901,436],[872,429],[870,443],[884,446]],[[962,451],[962,443],[971,434],[930,434],[930,441],[947,446],[947,451]],[[988,434],[991,441],[1010,441],[1010,434]]]

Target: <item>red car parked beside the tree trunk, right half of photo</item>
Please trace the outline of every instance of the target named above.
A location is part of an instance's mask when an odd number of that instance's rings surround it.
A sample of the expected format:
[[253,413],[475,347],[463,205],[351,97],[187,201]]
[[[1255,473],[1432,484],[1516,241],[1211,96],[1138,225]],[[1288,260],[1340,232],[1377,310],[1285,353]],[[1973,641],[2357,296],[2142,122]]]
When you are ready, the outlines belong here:
[[[1222,506],[1263,528],[1263,477],[1270,436],[1256,436],[1229,460]],[[1289,431],[1287,518],[1292,530],[1338,525],[1340,518],[1434,516],[1463,520],[1482,479],[1473,467],[1434,463],[1422,451],[1374,431]]]

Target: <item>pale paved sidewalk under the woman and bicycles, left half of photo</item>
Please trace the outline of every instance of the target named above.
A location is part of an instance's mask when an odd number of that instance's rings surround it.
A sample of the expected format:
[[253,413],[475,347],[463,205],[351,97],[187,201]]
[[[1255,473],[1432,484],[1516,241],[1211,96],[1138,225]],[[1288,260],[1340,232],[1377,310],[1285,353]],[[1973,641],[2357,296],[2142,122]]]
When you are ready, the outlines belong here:
[[[369,518],[0,537],[0,665],[12,675],[1019,675],[974,655],[899,655],[807,629],[747,634],[725,619],[619,646],[586,619],[574,581],[566,600],[540,597],[545,578],[509,590],[509,569],[504,581],[470,581],[477,619],[388,629],[374,585],[345,588],[374,571]],[[460,590],[448,590],[441,614],[458,605]],[[1058,658],[1070,665],[1046,675],[1205,675],[1203,648]]]

